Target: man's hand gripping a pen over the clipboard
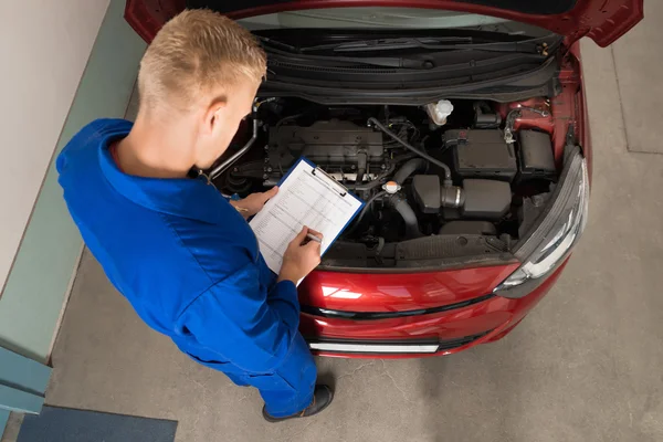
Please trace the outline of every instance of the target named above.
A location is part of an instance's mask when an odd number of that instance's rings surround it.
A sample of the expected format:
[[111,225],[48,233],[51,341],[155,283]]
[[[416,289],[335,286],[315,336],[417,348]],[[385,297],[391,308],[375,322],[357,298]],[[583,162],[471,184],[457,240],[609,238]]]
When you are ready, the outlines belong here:
[[283,254],[278,281],[292,281],[296,284],[320,263],[320,243],[308,240],[308,233],[323,239],[322,233],[304,227]]

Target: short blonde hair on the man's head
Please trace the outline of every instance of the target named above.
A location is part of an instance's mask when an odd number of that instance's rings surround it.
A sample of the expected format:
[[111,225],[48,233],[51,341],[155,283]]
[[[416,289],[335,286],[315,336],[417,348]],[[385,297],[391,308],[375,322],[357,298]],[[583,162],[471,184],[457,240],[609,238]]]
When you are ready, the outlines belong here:
[[186,10],[161,28],[138,72],[140,107],[187,109],[219,85],[260,82],[266,55],[234,21],[210,10]]

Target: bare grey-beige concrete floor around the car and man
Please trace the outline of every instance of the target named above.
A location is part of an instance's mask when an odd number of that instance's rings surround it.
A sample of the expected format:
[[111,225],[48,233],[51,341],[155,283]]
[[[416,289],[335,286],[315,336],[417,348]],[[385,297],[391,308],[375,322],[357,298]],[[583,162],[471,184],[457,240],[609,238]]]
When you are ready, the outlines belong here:
[[[663,7],[650,9],[663,17]],[[661,36],[655,20],[648,23]],[[583,42],[590,222],[559,283],[506,339],[444,358],[318,359],[336,379],[334,404],[313,419],[267,424],[256,391],[148,329],[86,254],[46,402],[178,420],[179,442],[663,440],[663,155],[654,154],[663,94],[648,95],[663,66],[655,52],[632,56],[643,31],[613,49]],[[640,99],[651,103],[639,107]],[[638,138],[641,116],[651,122],[646,139]],[[651,154],[631,151],[648,151],[648,139]]]

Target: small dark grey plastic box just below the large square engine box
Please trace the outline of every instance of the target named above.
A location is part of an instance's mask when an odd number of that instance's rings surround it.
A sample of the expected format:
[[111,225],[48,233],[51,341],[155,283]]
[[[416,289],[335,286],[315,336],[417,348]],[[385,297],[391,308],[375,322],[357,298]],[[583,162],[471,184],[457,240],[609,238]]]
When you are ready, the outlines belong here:
[[498,220],[508,212],[512,201],[508,182],[466,179],[463,181],[463,217]]

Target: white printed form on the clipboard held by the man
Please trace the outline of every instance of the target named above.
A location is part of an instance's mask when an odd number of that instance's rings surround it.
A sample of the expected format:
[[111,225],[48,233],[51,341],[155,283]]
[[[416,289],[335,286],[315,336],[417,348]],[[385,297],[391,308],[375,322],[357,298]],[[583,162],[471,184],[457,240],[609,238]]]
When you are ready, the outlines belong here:
[[305,158],[278,185],[278,193],[249,223],[267,266],[278,274],[287,244],[304,225],[323,234],[320,253],[350,223],[364,201]]

